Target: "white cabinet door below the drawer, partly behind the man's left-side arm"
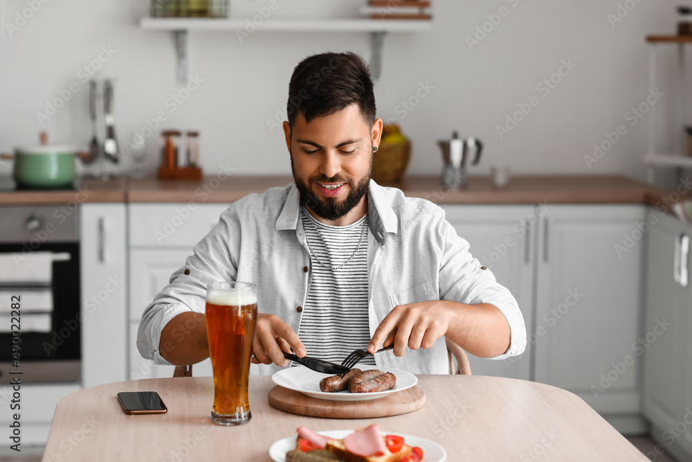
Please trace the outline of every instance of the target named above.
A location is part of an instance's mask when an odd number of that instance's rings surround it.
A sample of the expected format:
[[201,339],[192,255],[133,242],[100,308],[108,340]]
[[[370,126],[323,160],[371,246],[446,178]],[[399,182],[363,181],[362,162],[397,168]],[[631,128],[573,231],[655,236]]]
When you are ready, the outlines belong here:
[[[185,264],[185,258],[192,254],[189,249],[132,250],[130,251],[130,328],[129,328],[129,379],[172,377],[173,366],[155,365],[144,359],[137,349],[137,329],[147,305],[170,281],[176,269]],[[212,375],[209,359],[192,368],[195,376]]]

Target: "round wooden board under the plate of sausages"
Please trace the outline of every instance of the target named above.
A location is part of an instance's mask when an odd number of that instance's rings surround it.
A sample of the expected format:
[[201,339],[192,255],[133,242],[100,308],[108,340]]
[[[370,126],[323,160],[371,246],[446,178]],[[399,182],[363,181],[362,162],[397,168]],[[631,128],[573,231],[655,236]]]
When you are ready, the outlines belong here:
[[269,391],[269,404],[280,411],[299,416],[324,418],[377,418],[399,416],[426,404],[426,394],[418,387],[365,401],[329,401],[310,398],[298,391],[279,387]]

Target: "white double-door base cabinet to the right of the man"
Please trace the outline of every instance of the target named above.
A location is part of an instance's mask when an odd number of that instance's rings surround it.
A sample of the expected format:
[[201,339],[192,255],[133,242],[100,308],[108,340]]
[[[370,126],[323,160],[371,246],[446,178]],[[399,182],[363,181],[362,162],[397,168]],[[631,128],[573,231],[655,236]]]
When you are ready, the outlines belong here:
[[[527,326],[525,353],[497,362],[469,355],[472,373],[551,384],[576,393],[623,432],[644,429],[641,355],[631,349],[643,313],[644,206],[444,210],[471,254],[515,296]],[[631,364],[621,367],[628,354]],[[601,374],[617,377],[601,384]]]

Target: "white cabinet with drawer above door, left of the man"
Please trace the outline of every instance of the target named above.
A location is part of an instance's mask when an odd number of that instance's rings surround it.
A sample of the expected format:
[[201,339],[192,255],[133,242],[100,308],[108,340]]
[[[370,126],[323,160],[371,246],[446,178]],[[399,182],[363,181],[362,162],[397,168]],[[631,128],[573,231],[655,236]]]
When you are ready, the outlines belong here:
[[[137,349],[137,330],[147,305],[185,264],[192,249],[219,222],[228,204],[131,204],[129,206],[129,311],[127,374],[130,380],[172,377],[173,366],[154,364]],[[210,359],[195,376],[212,375]]]

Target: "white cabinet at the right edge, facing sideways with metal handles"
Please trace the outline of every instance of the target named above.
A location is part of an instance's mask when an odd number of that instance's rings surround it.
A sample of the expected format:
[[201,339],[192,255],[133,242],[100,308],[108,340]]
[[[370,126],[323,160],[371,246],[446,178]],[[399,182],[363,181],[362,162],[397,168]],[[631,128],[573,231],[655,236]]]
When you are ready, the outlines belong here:
[[680,460],[692,459],[692,226],[657,215],[648,236],[644,352],[644,416],[652,436]]

